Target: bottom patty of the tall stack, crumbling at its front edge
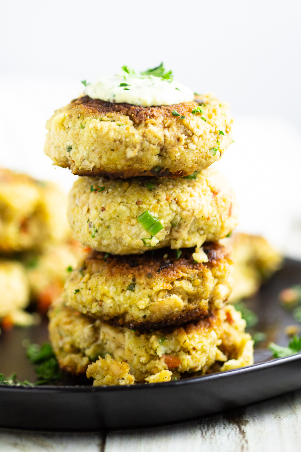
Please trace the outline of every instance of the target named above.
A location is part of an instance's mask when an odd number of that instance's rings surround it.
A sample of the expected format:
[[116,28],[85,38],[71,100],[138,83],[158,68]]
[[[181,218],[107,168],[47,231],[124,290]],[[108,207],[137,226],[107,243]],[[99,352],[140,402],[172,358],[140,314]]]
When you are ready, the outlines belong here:
[[[49,316],[50,340],[61,369],[73,374],[88,369],[95,384],[131,383],[128,368],[116,362],[128,364],[135,383],[204,374],[217,363],[221,370],[253,363],[251,336],[231,305],[181,327],[144,333],[93,320],[61,301],[52,306]],[[105,358],[107,354],[112,361]],[[95,365],[88,368],[92,362]]]

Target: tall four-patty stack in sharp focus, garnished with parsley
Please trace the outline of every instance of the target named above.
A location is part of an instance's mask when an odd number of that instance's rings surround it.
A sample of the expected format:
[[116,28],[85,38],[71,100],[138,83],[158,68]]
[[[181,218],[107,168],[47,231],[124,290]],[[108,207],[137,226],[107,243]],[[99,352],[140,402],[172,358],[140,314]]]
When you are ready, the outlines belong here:
[[[124,385],[252,364],[245,321],[225,304],[233,263],[219,243],[237,226],[237,204],[209,168],[232,141],[228,106],[213,95],[145,106],[147,71],[128,93],[135,74],[122,69],[118,101],[84,83],[47,125],[46,154],[80,176],[68,216],[92,249],[49,313],[60,367]],[[151,71],[157,91],[171,91],[171,73]]]

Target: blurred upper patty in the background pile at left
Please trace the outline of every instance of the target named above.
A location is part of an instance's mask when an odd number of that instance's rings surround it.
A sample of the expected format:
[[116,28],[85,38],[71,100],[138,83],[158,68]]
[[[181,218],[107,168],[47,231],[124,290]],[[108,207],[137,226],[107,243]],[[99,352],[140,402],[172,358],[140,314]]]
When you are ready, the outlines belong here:
[[66,198],[55,184],[0,168],[0,252],[41,250],[68,233]]

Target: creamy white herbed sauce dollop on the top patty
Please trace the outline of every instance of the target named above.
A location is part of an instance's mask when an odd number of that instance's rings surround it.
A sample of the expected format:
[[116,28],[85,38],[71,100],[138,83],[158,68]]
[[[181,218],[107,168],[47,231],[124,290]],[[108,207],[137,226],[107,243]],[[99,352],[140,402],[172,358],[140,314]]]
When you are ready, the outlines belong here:
[[194,98],[192,89],[182,83],[153,75],[137,77],[124,73],[97,77],[86,85],[84,92],[92,99],[144,107],[190,102]]

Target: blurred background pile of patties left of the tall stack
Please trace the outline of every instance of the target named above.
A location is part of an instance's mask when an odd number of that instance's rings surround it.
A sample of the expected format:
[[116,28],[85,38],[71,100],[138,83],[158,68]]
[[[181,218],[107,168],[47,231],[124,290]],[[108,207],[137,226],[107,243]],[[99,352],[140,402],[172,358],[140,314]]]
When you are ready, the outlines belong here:
[[57,299],[68,275],[83,256],[71,240],[66,196],[52,182],[0,168],[0,323],[2,328],[38,321]]

